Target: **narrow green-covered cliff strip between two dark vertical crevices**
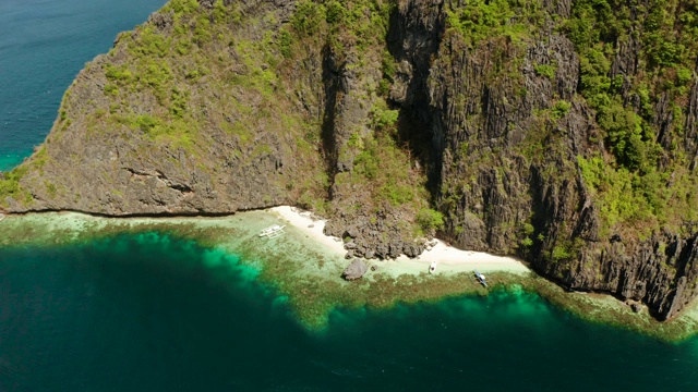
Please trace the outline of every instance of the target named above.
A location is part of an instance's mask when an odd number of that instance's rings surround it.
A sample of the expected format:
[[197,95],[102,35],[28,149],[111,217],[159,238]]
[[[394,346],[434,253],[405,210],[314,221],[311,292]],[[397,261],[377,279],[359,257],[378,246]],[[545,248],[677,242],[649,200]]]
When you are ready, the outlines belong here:
[[[290,29],[284,30],[280,41],[287,59],[293,59],[299,48],[322,45],[324,61],[330,63],[324,66],[336,68],[333,71],[340,75],[335,77],[342,78],[336,83],[354,85],[350,91],[334,87],[332,109],[339,113],[323,124],[334,134],[334,146],[326,151],[334,156],[328,169],[333,197],[323,207],[323,212],[333,216],[402,211],[406,217],[416,217],[429,208],[425,175],[414,168],[398,135],[399,110],[386,99],[396,73],[386,47],[395,8],[392,1],[299,1]],[[334,159],[352,169],[335,172]],[[321,200],[304,201],[306,207],[322,205]],[[409,235],[436,229],[420,225],[414,218],[400,223]]]

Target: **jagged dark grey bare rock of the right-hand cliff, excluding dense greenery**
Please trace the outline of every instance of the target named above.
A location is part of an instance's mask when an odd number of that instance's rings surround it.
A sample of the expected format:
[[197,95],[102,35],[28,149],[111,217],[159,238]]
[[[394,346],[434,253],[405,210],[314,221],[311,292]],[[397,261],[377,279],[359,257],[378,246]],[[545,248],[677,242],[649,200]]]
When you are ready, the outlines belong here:
[[[574,45],[544,25],[543,38],[526,48],[492,41],[471,49],[462,36],[441,34],[442,5],[406,2],[390,37],[400,62],[392,97],[423,119],[432,135],[432,179],[446,216],[442,235],[464,248],[517,253],[538,272],[575,290],[642,301],[660,319],[676,315],[697,293],[696,235],[602,237],[604,217],[585,184],[577,157],[604,147],[590,142],[598,139],[598,125],[577,95],[580,72]],[[545,7],[563,17],[571,9],[569,1]],[[612,74],[637,73],[637,41],[623,42]],[[519,59],[513,72],[491,76],[492,69],[506,69],[513,59]],[[540,64],[556,64],[557,72],[553,77],[540,75],[535,69]],[[571,103],[561,119],[534,114],[559,99]],[[665,105],[658,100],[655,113],[664,117],[655,124],[671,123],[671,114],[662,109]],[[686,123],[693,126],[694,119],[688,115]],[[535,140],[537,128],[551,132]],[[531,147],[539,152],[531,155]],[[533,230],[530,248],[520,245],[526,222]],[[583,244],[578,253],[552,259],[561,244],[575,241]]]

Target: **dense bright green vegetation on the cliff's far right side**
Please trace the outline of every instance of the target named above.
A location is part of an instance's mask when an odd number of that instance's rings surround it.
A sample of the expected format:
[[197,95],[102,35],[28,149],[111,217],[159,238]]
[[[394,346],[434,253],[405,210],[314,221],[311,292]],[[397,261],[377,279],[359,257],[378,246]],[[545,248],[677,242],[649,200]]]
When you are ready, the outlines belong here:
[[[579,158],[607,230],[647,237],[698,219],[698,184],[685,168],[685,102],[698,53],[695,4],[575,1],[565,32],[581,66],[580,93],[611,152]],[[634,69],[639,66],[639,69]],[[662,124],[657,110],[670,111]]]

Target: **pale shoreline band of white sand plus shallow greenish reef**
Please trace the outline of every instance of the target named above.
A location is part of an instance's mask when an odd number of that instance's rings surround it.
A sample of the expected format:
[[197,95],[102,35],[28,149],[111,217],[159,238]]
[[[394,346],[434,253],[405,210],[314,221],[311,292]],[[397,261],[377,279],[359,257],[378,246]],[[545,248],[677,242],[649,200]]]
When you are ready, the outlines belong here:
[[[258,238],[260,230],[279,223],[288,224],[288,235],[274,241]],[[227,265],[233,269],[244,265],[244,279],[250,280],[258,279],[260,270],[268,272],[265,282],[275,283],[281,295],[288,295],[299,318],[311,328],[325,326],[328,313],[336,306],[389,307],[397,302],[416,303],[474,293],[480,285],[472,277],[472,270],[478,269],[485,274],[506,272],[491,275],[491,282],[518,283],[520,289],[539,293],[552,304],[570,309],[585,319],[628,326],[665,341],[686,339],[698,331],[698,302],[671,322],[659,322],[647,311],[635,314],[624,302],[612,296],[565,292],[530,273],[515,258],[459,250],[443,242],[424,252],[419,259],[369,260],[370,265],[377,266],[376,271],[366,273],[359,284],[345,282],[339,278],[348,265],[344,244],[339,238],[324,235],[324,226],[325,222],[313,220],[310,212],[291,207],[218,218],[112,219],[79,212],[5,213],[0,222],[0,247],[84,244],[119,233],[137,234],[139,241],[153,240],[141,235],[153,232],[164,233],[153,241],[169,243],[170,235],[203,241],[205,266],[218,270]],[[244,254],[239,255],[239,249]],[[241,264],[237,256],[228,257],[230,255],[243,256],[245,262]],[[430,275],[429,266],[433,260],[438,265],[436,274]],[[459,273],[469,274],[470,279],[462,279]],[[396,279],[383,279],[385,275]],[[440,275],[443,279],[438,279]]]

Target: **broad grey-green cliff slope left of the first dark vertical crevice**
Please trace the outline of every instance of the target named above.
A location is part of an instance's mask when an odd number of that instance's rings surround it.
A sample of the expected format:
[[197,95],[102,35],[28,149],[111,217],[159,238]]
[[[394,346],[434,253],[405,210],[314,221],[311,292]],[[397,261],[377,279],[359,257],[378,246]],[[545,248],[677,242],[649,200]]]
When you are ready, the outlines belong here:
[[[224,213],[313,192],[323,166],[306,124],[321,70],[279,71],[294,81],[268,71],[278,53],[264,45],[292,11],[284,4],[173,2],[121,34],[65,94],[25,166],[31,197],[9,198],[10,209]],[[301,100],[291,83],[303,82]]]

